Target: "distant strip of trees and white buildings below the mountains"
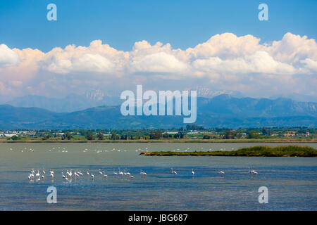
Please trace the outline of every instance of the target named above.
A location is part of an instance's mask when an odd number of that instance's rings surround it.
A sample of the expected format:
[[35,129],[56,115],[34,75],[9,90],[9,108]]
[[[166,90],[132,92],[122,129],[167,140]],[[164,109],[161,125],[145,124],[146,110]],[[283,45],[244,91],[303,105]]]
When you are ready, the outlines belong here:
[[206,129],[187,125],[180,129],[68,129],[68,130],[0,130],[0,141],[147,141],[147,140],[245,140],[263,139],[316,141],[317,129],[308,127],[263,127]]

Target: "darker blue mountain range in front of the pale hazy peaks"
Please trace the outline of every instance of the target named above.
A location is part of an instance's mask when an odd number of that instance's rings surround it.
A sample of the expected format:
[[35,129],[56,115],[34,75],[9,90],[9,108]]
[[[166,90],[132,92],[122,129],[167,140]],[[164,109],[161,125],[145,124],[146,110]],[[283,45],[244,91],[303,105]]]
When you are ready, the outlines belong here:
[[[104,99],[104,97],[102,97]],[[79,105],[77,105],[79,107]],[[0,105],[0,129],[140,129],[185,127],[182,116],[123,116],[120,105],[57,113]],[[204,127],[317,127],[317,103],[289,98],[197,98],[197,125]]]

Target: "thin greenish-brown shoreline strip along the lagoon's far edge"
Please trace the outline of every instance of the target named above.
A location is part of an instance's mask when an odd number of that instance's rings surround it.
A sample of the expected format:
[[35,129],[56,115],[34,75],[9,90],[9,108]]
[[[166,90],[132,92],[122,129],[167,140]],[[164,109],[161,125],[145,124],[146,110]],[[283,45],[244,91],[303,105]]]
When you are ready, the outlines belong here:
[[317,139],[182,139],[182,140],[0,140],[0,143],[317,143]]

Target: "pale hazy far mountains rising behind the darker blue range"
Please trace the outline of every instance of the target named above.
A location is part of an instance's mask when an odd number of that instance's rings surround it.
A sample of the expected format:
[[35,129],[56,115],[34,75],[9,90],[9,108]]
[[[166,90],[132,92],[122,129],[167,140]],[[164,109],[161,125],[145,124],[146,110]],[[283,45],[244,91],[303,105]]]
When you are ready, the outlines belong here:
[[[204,86],[196,86],[197,96],[202,98],[215,98],[216,96],[231,96],[233,98],[245,98],[239,91],[212,90]],[[3,104],[13,105],[15,107],[36,107],[43,108],[56,113],[71,113],[87,108],[93,108],[102,105],[120,105],[120,94],[105,94],[101,90],[86,91],[82,94],[68,94],[63,98],[51,98],[46,96],[27,95],[11,99],[11,101],[2,101]],[[1,96],[0,96],[1,97]],[[289,94],[288,96],[271,96],[270,99],[290,98],[294,101],[317,102],[317,97],[304,96],[299,94]],[[0,98],[1,99],[1,98]],[[1,104],[1,103],[0,103]]]

